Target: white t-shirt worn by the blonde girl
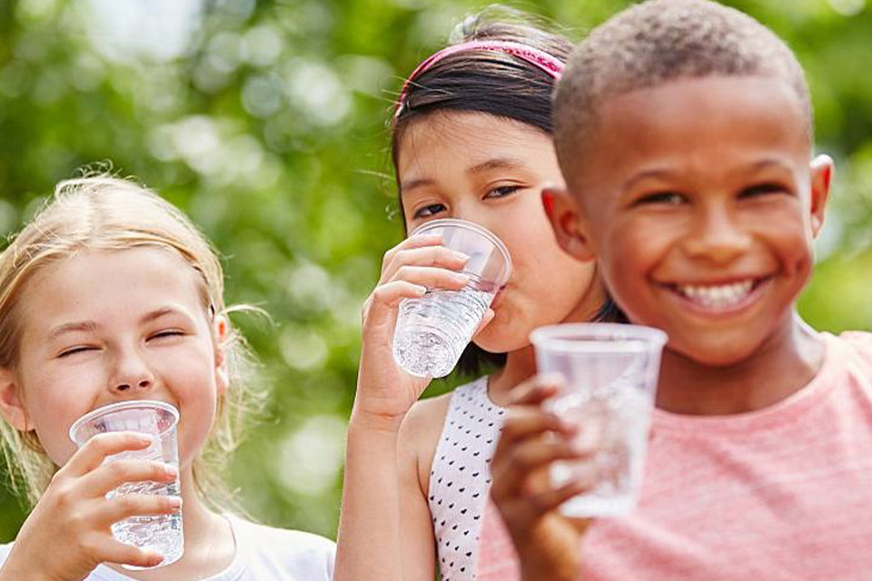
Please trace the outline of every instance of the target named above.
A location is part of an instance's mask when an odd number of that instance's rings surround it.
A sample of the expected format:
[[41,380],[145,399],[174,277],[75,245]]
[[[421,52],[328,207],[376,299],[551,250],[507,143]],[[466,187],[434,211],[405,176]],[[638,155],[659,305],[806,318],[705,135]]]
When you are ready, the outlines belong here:
[[[336,546],[312,533],[264,527],[227,516],[236,541],[233,562],[221,573],[197,581],[330,581]],[[0,566],[12,545],[0,546]],[[133,581],[98,566],[84,581]],[[193,581],[193,580],[192,580]]]

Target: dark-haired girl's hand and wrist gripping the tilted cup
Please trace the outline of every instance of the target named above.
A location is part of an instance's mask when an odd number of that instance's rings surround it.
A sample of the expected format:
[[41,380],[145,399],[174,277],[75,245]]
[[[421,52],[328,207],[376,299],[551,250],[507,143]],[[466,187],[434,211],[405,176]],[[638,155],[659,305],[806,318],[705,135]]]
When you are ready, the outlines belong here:
[[469,282],[461,273],[468,260],[441,246],[439,235],[413,236],[385,253],[381,279],[363,304],[361,369],[353,411],[356,420],[399,428],[430,383],[430,379],[406,373],[393,359],[393,331],[400,302],[421,298],[427,289],[460,291]]

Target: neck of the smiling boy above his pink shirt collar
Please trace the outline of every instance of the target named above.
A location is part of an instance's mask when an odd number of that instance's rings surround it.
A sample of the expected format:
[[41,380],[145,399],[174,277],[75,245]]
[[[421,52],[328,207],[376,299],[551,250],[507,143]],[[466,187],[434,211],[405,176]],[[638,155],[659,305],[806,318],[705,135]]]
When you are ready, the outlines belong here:
[[820,369],[824,345],[792,313],[782,327],[748,358],[723,367],[664,350],[657,407],[721,416],[764,409],[796,393]]

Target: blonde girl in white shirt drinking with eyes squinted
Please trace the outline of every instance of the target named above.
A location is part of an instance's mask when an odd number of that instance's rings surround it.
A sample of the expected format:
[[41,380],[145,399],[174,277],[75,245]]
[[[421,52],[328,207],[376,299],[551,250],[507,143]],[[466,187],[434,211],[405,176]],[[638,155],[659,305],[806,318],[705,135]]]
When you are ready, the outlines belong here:
[[[209,242],[133,182],[62,182],[3,251],[5,456],[35,507],[15,543],[0,547],[2,581],[331,577],[331,541],[222,513],[204,459],[235,446],[249,387],[240,381],[242,338],[224,313],[221,264]],[[144,448],[134,433],[102,434],[78,450],[70,441],[75,419],[131,399],[179,409],[181,497],[105,497],[122,482],[175,478],[175,468],[156,462],[101,464]],[[115,541],[110,525],[180,507],[182,558],[156,570],[121,569],[156,566],[162,556]]]

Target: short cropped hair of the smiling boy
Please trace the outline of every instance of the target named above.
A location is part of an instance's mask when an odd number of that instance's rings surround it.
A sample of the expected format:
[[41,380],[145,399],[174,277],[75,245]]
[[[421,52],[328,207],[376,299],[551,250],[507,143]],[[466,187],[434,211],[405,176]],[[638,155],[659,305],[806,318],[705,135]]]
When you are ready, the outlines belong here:
[[812,111],[802,66],[757,20],[710,0],[649,0],[595,28],[570,54],[554,98],[554,144],[564,177],[595,131],[602,103],[679,79],[761,76],[788,84]]

